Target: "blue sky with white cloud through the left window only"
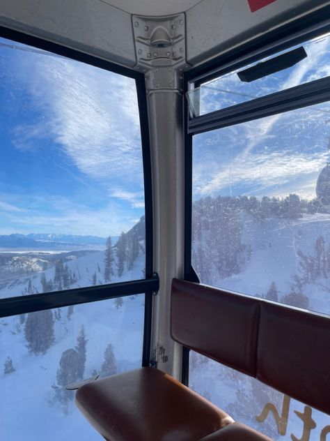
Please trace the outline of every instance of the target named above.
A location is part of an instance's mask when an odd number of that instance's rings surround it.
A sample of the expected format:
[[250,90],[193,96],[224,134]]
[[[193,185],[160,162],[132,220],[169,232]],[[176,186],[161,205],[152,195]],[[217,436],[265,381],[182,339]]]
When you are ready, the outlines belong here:
[[144,214],[135,82],[0,39],[0,234],[118,235]]

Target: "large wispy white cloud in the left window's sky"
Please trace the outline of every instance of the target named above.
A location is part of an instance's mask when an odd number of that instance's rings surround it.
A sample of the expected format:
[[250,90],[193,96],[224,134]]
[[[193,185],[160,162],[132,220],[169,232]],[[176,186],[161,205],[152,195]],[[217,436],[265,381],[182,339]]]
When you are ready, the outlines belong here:
[[63,58],[35,55],[24,63],[21,80],[42,121],[17,126],[14,146],[29,151],[52,138],[52,148],[94,181],[142,189],[134,80]]

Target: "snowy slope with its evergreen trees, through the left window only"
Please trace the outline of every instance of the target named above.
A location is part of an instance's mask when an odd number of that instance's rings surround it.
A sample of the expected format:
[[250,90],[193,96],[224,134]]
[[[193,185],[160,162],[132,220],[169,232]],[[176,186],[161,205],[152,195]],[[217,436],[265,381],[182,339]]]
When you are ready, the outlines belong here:
[[[106,251],[55,253],[0,297],[102,284]],[[111,252],[111,282],[143,278],[144,218]],[[144,294],[0,319],[0,439],[99,440],[63,386],[141,366],[143,320]]]

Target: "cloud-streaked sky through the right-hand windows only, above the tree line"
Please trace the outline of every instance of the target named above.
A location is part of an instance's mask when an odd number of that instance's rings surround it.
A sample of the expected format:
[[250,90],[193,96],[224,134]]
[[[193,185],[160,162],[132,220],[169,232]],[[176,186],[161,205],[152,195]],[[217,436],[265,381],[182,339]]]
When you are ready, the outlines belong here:
[[[304,45],[308,57],[251,83],[231,73],[202,85],[201,114],[330,75],[330,37]],[[236,92],[239,94],[236,94]],[[194,137],[194,198],[217,195],[315,197],[327,164],[330,105],[321,103]]]

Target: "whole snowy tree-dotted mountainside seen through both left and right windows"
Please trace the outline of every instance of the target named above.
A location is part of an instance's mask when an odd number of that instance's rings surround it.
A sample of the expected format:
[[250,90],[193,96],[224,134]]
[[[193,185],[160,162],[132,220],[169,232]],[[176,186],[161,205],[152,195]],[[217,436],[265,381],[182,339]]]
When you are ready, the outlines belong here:
[[[272,204],[276,213],[267,211],[267,201],[261,209],[261,202],[251,198],[195,202],[193,263],[202,282],[260,297],[272,294],[279,301],[293,289],[299,295],[287,297],[287,303],[306,297],[308,308],[329,314],[329,215],[313,207],[294,211],[292,204],[288,210],[283,210],[285,202],[283,207],[275,200]],[[111,282],[143,278],[144,230],[141,218],[116,244],[112,241],[110,252],[106,246],[93,253],[49,253],[53,260],[47,257],[48,267],[38,261],[33,272],[11,278],[1,287],[0,298],[99,285],[105,281],[107,265]],[[270,290],[272,283],[276,288]],[[0,438],[99,440],[75,408],[74,393],[66,392],[63,384],[77,380],[82,368],[88,378],[107,375],[104,366],[109,366],[108,374],[141,366],[143,306],[144,296],[139,294],[69,306],[51,315],[40,312],[0,320]],[[256,420],[267,402],[281,412],[281,394],[194,352],[189,378],[192,388],[239,421],[274,440],[283,438],[272,416],[264,424]],[[304,412],[304,405],[292,401],[290,408],[288,434],[299,436],[301,420],[294,410]],[[24,421],[17,424],[19,414],[24,414]],[[329,417],[315,410],[313,418],[317,428],[330,424]]]

